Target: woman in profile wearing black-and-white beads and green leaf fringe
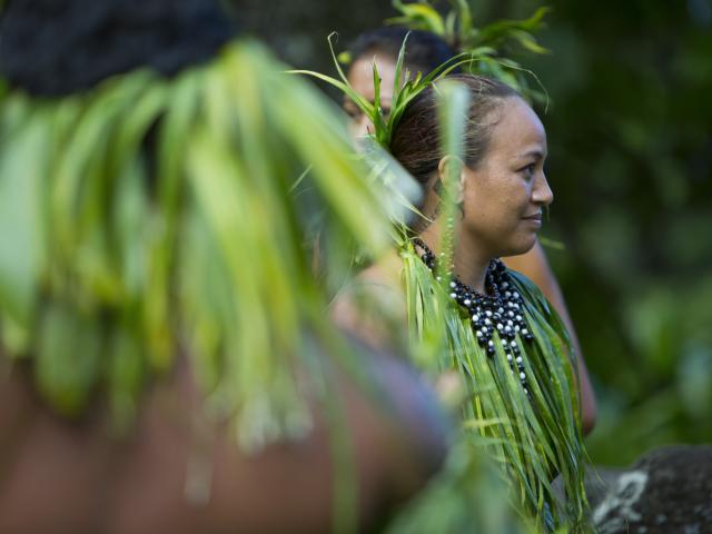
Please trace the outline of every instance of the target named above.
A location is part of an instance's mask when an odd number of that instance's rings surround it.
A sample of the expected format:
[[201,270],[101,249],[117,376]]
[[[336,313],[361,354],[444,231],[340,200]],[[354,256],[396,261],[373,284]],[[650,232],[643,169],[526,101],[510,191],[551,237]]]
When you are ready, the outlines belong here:
[[[393,156],[423,187],[422,217],[411,225],[411,244],[362,273],[358,290],[380,295],[383,307],[417,329],[421,343],[444,339],[438,364],[465,383],[466,424],[495,438],[495,455],[537,517],[546,516],[543,502],[556,506],[544,486],[561,474],[568,500],[562,514],[571,526],[585,528],[584,453],[566,333],[540,291],[497,259],[536,244],[553,200],[544,175],[544,128],[508,86],[471,75],[449,78],[469,96],[463,160],[443,157],[439,91],[431,86],[405,108],[390,144]],[[447,212],[444,184],[453,169],[458,209],[446,218],[441,216]],[[452,256],[442,248],[448,241]],[[445,313],[428,304],[443,289]],[[348,298],[336,314],[376,343],[393,330],[380,320],[363,320]]]

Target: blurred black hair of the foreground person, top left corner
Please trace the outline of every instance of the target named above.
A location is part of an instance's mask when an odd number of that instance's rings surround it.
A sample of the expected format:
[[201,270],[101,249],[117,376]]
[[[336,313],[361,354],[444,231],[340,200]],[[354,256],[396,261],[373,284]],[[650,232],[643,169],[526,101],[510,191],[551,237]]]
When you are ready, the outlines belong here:
[[0,71],[33,95],[68,95],[138,67],[175,75],[235,33],[217,0],[10,0]]

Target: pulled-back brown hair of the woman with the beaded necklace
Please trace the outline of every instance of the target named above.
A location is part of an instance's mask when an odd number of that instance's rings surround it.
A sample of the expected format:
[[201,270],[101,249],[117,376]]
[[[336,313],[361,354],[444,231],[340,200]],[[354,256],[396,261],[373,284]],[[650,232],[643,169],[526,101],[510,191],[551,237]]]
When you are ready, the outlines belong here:
[[[504,100],[518,97],[510,86],[474,75],[454,75],[445,79],[464,83],[469,91],[468,127],[465,131],[464,162],[476,168],[484,158],[492,128],[492,113]],[[404,110],[393,130],[390,152],[422,186],[426,186],[443,158],[438,135],[436,91],[433,86],[421,92]]]

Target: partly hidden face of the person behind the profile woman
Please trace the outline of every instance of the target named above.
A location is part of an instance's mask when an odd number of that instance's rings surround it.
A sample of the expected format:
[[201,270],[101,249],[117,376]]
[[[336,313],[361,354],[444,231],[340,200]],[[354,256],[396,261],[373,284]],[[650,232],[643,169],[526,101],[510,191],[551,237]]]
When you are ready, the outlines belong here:
[[[387,56],[362,56],[348,69],[348,82],[352,88],[369,102],[374,101],[374,59],[380,76],[380,108],[385,115],[390,111],[393,82],[396,77],[396,63]],[[360,109],[345,97],[344,110],[350,116],[350,132],[354,137],[363,137],[373,132],[374,125]]]

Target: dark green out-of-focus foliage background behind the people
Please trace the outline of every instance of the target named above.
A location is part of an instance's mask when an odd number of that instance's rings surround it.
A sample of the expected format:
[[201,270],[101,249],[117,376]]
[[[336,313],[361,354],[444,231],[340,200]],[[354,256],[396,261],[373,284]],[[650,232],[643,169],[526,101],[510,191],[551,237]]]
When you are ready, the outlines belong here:
[[[600,402],[597,464],[712,442],[712,0],[482,0],[477,26],[553,8],[543,235]],[[395,16],[388,0],[244,0],[243,29],[299,68]]]

